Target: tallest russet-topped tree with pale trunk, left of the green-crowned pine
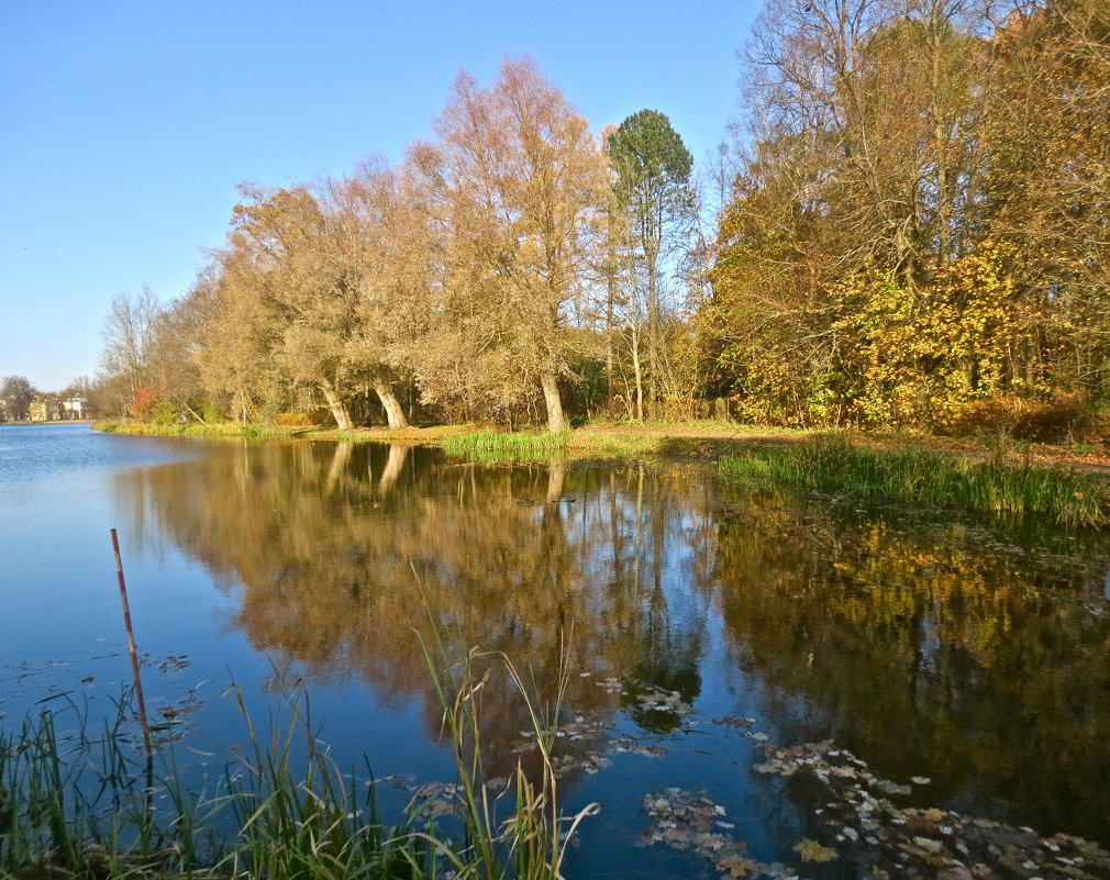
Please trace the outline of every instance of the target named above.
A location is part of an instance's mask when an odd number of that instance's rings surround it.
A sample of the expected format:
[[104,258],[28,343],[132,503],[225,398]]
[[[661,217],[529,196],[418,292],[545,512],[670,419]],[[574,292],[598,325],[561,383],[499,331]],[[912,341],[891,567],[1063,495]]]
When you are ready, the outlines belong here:
[[558,382],[575,355],[568,317],[596,239],[605,161],[531,59],[505,61],[490,89],[461,73],[435,132],[412,150],[443,242],[422,385],[494,404],[538,387],[548,427],[562,431]]

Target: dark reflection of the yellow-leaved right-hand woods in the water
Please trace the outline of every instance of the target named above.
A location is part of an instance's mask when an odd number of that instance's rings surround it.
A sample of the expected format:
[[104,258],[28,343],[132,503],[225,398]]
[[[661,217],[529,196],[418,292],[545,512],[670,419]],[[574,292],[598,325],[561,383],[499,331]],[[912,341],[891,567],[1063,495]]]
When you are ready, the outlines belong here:
[[726,631],[771,687],[780,736],[931,777],[921,803],[1107,840],[1104,539],[1019,546],[961,523],[817,513],[763,495],[720,516]]

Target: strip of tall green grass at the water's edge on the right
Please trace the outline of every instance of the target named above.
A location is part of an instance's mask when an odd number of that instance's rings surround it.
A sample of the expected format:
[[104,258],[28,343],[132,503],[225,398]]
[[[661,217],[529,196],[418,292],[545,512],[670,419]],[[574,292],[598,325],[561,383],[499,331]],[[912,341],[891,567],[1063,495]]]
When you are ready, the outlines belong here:
[[789,448],[728,455],[720,474],[745,483],[776,483],[861,500],[891,500],[1020,518],[1103,526],[1108,486],[1092,474],[1009,464],[1001,453],[986,462],[925,452],[878,453],[844,437]]

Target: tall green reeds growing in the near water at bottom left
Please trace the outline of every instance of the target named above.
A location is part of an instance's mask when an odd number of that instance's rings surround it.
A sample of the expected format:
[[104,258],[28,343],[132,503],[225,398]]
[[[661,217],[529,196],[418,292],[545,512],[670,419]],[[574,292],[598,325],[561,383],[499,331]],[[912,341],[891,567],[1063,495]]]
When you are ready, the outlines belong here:
[[[555,880],[578,822],[594,811],[558,812],[551,749],[566,676],[545,715],[538,707],[547,704],[503,655],[453,656],[442,644],[427,650],[457,776],[434,793],[417,789],[394,825],[382,821],[370,768],[342,771],[317,739],[303,692],[260,730],[231,688],[248,746],[203,793],[182,781],[172,745],[158,746],[148,763],[127,699],[103,730],[75,704],[29,718],[0,732],[0,877]],[[507,782],[483,773],[475,695],[491,674],[508,677],[535,724],[538,778],[519,766]]]

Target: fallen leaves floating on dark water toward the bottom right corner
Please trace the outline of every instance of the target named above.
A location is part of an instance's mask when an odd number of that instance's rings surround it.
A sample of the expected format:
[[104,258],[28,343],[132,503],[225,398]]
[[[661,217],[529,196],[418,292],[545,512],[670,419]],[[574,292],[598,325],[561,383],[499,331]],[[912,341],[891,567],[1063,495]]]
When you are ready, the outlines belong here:
[[[754,767],[757,773],[771,780],[791,778],[791,787],[808,790],[807,799],[820,805],[805,817],[806,833],[811,837],[791,847],[804,864],[845,861],[856,871],[866,870],[871,880],[1110,877],[1110,853],[1092,841],[1060,833],[1040,837],[1030,828],[953,810],[898,806],[895,798],[910,795],[910,786],[876,776],[862,760],[831,741],[788,748],[760,742],[756,748],[766,758]],[[925,778],[912,781],[929,783]],[[790,797],[783,789],[778,796]],[[653,791],[645,796],[644,808],[650,817],[643,836],[645,846],[692,852],[724,876],[743,880],[796,880],[799,870],[805,876],[804,868],[753,858],[725,807],[705,792]]]

